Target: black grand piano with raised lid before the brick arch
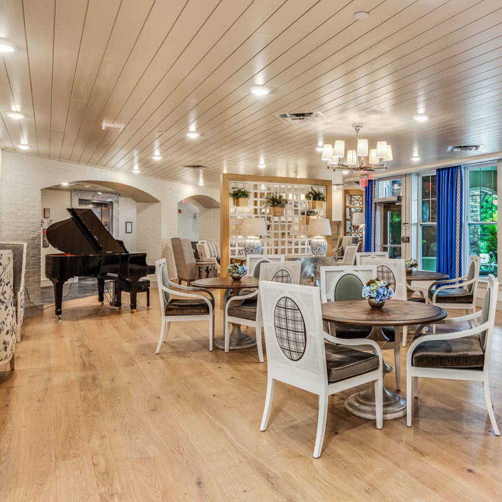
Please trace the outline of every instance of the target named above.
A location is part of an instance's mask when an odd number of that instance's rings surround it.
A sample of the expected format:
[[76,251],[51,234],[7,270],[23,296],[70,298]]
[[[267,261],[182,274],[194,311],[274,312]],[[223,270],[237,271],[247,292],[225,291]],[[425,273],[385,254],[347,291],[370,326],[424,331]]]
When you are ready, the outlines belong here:
[[104,300],[104,281],[115,284],[114,307],[121,306],[121,290],[126,284],[131,295],[131,309],[136,309],[140,279],[155,273],[146,253],[128,253],[123,243],[114,239],[92,209],[69,208],[71,218],[47,228],[47,240],[63,253],[46,255],[45,275],[54,284],[55,314],[62,317],[63,285],[75,276],[97,278],[98,301]]

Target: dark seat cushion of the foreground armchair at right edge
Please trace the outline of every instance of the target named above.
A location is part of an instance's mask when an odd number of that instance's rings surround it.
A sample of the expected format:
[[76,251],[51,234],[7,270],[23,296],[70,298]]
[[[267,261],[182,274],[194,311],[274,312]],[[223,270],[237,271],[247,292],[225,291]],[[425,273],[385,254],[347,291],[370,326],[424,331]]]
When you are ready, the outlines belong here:
[[453,340],[429,340],[417,346],[412,362],[420,368],[482,369],[484,353],[478,335]]

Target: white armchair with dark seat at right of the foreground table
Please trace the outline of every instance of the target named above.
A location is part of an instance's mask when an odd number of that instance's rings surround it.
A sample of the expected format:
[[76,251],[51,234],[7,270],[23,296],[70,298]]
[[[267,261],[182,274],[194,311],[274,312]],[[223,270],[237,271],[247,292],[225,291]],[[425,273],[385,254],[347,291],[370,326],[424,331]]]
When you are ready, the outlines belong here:
[[[421,335],[411,343],[406,357],[406,425],[411,427],[413,396],[418,397],[418,377],[481,382],[491,426],[500,435],[489,389],[490,350],[497,306],[498,281],[490,274],[479,312],[456,318],[445,318],[436,324],[446,328],[465,321],[479,324],[461,331]],[[424,326],[420,327],[420,331]],[[460,399],[463,400],[464,396]],[[471,419],[470,419],[471,420]]]

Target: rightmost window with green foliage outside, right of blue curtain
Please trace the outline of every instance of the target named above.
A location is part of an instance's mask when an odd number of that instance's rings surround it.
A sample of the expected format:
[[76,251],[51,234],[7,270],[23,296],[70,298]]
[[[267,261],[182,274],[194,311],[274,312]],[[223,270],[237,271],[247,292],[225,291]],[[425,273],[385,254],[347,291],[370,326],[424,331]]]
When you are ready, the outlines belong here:
[[469,254],[481,258],[481,276],[497,274],[497,167],[468,169]]

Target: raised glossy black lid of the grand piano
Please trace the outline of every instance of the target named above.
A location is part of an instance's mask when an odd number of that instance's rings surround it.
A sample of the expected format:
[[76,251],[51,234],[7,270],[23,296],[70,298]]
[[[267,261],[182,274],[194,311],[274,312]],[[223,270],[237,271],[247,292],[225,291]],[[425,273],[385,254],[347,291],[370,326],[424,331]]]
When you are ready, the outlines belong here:
[[53,223],[47,228],[47,240],[56,249],[72,255],[124,252],[92,209],[71,207],[67,211],[71,218]]

